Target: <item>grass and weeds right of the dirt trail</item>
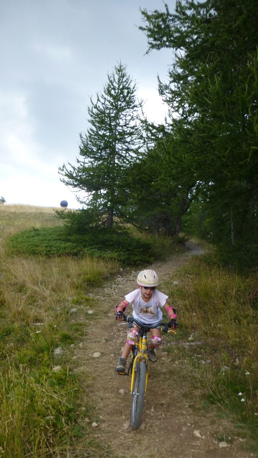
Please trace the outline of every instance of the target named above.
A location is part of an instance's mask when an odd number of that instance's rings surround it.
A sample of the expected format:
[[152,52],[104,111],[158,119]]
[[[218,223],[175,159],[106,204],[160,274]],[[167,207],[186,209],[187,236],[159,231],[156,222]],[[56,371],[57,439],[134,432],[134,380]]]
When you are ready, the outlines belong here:
[[257,297],[250,300],[256,278],[219,267],[209,254],[178,270],[170,287],[179,332],[187,341],[202,342],[190,359],[193,382],[235,416],[243,437],[254,436],[257,427]]

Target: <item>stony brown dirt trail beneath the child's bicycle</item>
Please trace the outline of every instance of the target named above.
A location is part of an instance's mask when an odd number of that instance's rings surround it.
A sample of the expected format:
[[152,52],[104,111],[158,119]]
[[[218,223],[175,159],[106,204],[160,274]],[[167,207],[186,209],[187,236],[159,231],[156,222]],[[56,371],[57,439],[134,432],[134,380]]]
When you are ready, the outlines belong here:
[[[158,272],[165,286],[171,273],[186,263],[190,255],[202,252],[198,246],[188,243],[185,254],[170,257],[165,262],[156,262],[149,268]],[[138,270],[127,269],[91,293],[98,308],[100,305],[106,314],[107,326],[103,328],[100,320],[94,322],[94,328],[87,334],[87,342],[86,339],[82,342],[77,358],[81,368],[86,368],[88,373],[90,371],[98,379],[96,389],[89,393],[95,401],[98,399],[98,425],[94,428],[96,438],[107,445],[113,458],[156,458],[161,453],[173,458],[253,456],[243,449],[244,443],[237,437],[230,446],[215,439],[214,430],[219,428],[223,436],[222,420],[219,420],[218,425],[218,417],[212,409],[205,412],[198,410],[198,389],[191,386],[191,380],[184,374],[176,346],[173,353],[164,352],[165,346],[169,345],[167,343],[158,350],[158,362],[151,364],[142,424],[137,431],[131,430],[130,378],[114,372],[128,328],[118,327],[114,320],[114,305],[122,300],[124,294],[135,289],[137,273]],[[166,292],[164,286],[161,291]],[[87,452],[86,456],[91,458]],[[103,454],[100,452],[99,456],[101,458]]]

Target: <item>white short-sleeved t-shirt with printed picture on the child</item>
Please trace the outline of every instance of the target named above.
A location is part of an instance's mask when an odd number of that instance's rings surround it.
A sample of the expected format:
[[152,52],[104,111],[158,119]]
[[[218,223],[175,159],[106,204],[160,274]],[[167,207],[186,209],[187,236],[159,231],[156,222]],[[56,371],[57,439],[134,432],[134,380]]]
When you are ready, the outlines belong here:
[[158,290],[154,290],[149,302],[141,298],[140,288],[125,296],[125,299],[133,307],[133,318],[144,323],[151,324],[162,320],[161,308],[164,306],[168,296]]

